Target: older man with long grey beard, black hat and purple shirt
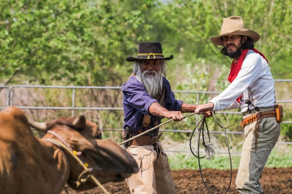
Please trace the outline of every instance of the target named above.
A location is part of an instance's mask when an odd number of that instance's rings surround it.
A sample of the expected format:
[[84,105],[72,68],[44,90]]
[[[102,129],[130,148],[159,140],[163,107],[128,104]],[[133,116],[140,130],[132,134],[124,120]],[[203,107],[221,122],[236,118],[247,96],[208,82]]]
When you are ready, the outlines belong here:
[[[194,112],[193,104],[175,99],[166,80],[166,61],[159,42],[140,43],[134,62],[134,76],[122,86],[125,113],[124,139],[138,135],[160,124],[161,119],[183,119],[182,113]],[[158,129],[131,141],[126,148],[135,158],[139,172],[127,178],[131,194],[175,194],[167,156],[160,144]]]

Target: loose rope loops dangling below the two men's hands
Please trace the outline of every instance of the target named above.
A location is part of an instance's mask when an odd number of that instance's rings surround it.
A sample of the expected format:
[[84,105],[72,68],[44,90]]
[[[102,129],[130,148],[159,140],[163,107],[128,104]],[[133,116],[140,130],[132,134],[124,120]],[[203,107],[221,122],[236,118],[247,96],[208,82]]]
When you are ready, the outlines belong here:
[[[220,111],[220,112],[223,113],[222,111]],[[231,181],[232,181],[232,161],[231,161],[230,148],[229,148],[229,143],[228,143],[228,138],[227,138],[227,133],[226,133],[226,129],[229,127],[229,120],[228,120],[227,115],[226,115],[225,113],[223,113],[224,116],[225,116],[226,119],[227,119],[227,126],[224,127],[224,125],[223,125],[223,121],[222,121],[222,119],[221,119],[219,113],[217,113],[217,114],[218,114],[218,116],[219,116],[220,124],[219,124],[218,120],[216,119],[215,114],[214,114],[214,113],[212,113],[212,114],[213,114],[213,118],[214,118],[215,122],[219,125],[219,127],[221,127],[222,129],[224,129],[225,141],[226,141],[227,148],[228,148],[228,155],[229,155],[229,162],[230,162],[230,181],[229,181],[228,188],[227,188],[226,191],[224,192],[224,194],[226,194],[226,193],[228,192],[229,188],[230,188]],[[199,137],[198,137],[198,156],[196,156],[196,154],[194,154],[194,152],[193,152],[193,150],[192,150],[191,141],[192,141],[192,136],[193,136],[195,130],[198,128],[198,126],[199,126],[199,124],[200,124],[201,122],[202,122],[202,124],[201,124],[201,128],[199,128]],[[193,154],[196,158],[198,158],[199,169],[200,169],[200,174],[201,174],[201,179],[202,179],[202,181],[203,181],[203,183],[204,183],[204,185],[205,185],[205,188],[208,190],[209,193],[213,194],[213,193],[209,190],[209,188],[207,187],[207,185],[206,185],[206,183],[205,183],[205,181],[204,181],[204,178],[203,178],[203,175],[202,175],[202,171],[201,171],[201,164],[200,164],[200,159],[202,159],[202,158],[205,157],[205,156],[200,157],[200,136],[201,136],[201,131],[202,131],[202,135],[203,135],[204,124],[206,125],[207,131],[208,131],[208,127],[207,127],[207,123],[206,123],[206,118],[205,118],[205,117],[203,117],[203,118],[201,119],[201,121],[197,124],[197,126],[196,126],[195,129],[193,130],[193,133],[192,133],[191,138],[190,138],[190,149],[191,149],[192,154]],[[208,132],[208,135],[209,135],[209,132]],[[204,138],[203,138],[203,139],[204,139]],[[210,137],[209,137],[209,141],[210,141]],[[204,144],[204,140],[203,140],[203,144]]]

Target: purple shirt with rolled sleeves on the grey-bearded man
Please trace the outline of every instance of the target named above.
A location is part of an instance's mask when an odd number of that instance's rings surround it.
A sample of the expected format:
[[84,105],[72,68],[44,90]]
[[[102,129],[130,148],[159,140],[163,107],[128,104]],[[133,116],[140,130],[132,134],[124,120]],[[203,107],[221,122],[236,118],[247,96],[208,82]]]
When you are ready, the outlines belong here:
[[[180,111],[183,101],[176,100],[171,90],[169,81],[163,77],[163,84],[165,87],[165,106],[168,111]],[[137,132],[143,126],[142,121],[144,115],[150,115],[150,124],[148,129],[155,127],[155,122],[158,117],[149,113],[149,107],[152,103],[158,102],[155,98],[151,97],[145,86],[137,80],[135,76],[123,84],[123,107],[125,113],[125,125],[123,128],[128,127],[131,133]],[[159,102],[158,102],[159,103]],[[161,119],[158,120],[161,122]]]

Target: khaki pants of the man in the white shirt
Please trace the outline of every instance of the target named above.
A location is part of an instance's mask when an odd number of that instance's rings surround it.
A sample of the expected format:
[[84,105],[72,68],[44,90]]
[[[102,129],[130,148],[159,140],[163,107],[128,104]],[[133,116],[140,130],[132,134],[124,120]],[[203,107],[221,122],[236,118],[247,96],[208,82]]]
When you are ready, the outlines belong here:
[[[260,112],[272,111],[274,107],[260,108],[259,110]],[[255,110],[252,110],[250,114],[243,113],[243,118],[255,113]],[[256,122],[254,121],[244,127],[246,139],[242,146],[241,160],[236,178],[237,191],[242,194],[263,193],[259,178],[280,135],[280,124],[276,122],[275,117],[262,119],[258,127],[259,136],[257,137],[256,149],[255,135],[253,134]]]

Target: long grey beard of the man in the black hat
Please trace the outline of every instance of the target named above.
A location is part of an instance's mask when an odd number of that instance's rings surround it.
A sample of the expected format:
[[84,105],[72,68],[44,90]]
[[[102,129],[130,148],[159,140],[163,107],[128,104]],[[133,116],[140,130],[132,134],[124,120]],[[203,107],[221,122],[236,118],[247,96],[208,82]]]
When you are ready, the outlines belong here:
[[[149,73],[151,73],[151,75],[148,75]],[[158,97],[162,94],[163,78],[161,74],[161,68],[158,73],[155,70],[145,70],[142,73],[141,67],[139,65],[138,71],[136,72],[136,77],[144,84],[148,94],[151,97]]]

